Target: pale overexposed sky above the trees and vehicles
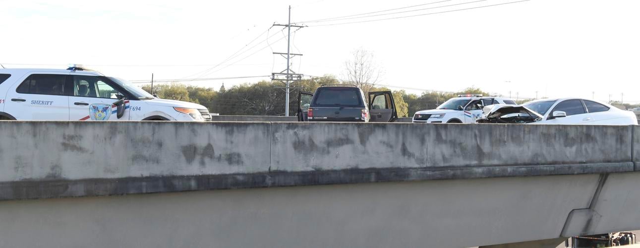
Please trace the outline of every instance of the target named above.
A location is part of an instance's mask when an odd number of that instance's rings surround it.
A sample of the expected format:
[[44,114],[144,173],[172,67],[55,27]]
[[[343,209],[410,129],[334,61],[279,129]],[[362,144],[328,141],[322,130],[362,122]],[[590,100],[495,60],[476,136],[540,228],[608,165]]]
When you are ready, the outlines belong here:
[[[272,24],[286,24],[291,5],[291,21],[307,26],[292,28],[291,53],[303,56],[291,69],[301,74],[346,79],[344,62],[364,49],[383,72],[378,83],[394,90],[640,103],[640,1],[514,1],[0,0],[0,63],[81,63],[130,81],[269,76],[286,68],[272,54],[286,53],[286,29]],[[376,16],[358,15],[369,12]],[[345,24],[376,19],[388,20]],[[217,89],[261,79],[185,83]]]

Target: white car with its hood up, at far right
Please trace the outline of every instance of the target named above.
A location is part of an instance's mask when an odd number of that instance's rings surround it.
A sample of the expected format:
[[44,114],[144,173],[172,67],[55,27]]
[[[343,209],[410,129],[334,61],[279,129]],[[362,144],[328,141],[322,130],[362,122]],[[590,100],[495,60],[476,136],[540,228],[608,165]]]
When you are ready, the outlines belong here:
[[636,125],[637,120],[633,112],[606,103],[562,98],[493,106],[477,123]]

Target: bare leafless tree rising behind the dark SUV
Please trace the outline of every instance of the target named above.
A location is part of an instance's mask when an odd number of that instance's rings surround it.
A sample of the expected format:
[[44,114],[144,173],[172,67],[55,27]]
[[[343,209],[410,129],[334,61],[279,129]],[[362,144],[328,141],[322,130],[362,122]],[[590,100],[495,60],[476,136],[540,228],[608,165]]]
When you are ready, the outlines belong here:
[[365,93],[373,88],[382,76],[382,70],[373,59],[373,53],[364,49],[353,52],[353,58],[344,62],[345,76]]

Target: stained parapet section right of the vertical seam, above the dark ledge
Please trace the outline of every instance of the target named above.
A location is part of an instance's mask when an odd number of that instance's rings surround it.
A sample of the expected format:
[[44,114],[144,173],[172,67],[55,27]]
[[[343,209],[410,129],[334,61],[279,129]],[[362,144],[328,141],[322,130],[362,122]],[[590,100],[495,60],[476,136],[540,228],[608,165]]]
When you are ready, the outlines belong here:
[[631,161],[629,126],[273,124],[277,170]]

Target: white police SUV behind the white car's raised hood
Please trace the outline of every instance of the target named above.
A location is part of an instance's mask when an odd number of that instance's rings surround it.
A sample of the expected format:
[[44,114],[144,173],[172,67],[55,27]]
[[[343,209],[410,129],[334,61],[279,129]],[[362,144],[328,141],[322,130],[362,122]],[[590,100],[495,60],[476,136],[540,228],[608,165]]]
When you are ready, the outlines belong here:
[[440,104],[435,110],[420,110],[413,115],[413,122],[423,123],[476,123],[483,117],[484,106],[516,104],[505,97],[483,97],[480,94],[458,95]]

